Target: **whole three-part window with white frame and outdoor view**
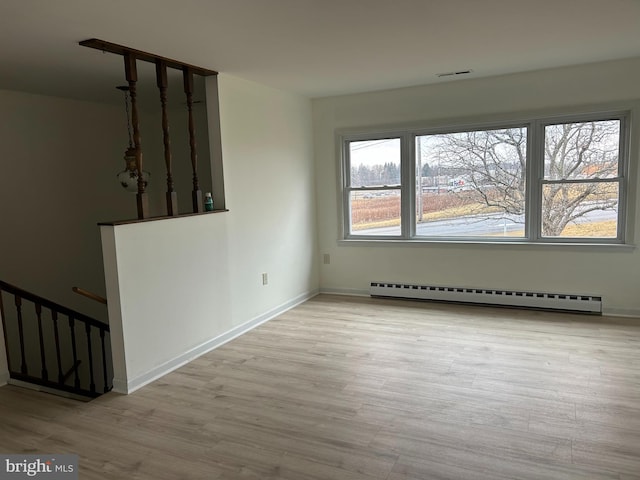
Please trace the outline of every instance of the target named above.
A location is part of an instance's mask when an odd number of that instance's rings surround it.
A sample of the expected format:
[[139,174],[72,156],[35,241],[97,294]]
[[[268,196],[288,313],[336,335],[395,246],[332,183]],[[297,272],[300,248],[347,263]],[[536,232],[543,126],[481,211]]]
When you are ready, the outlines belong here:
[[626,113],[343,137],[346,239],[623,243]]

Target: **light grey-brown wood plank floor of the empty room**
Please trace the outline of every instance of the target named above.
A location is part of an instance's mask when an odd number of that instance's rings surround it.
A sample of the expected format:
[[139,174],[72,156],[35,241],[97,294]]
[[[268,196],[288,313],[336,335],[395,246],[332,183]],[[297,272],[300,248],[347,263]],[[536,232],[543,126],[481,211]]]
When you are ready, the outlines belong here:
[[640,321],[318,296],[129,396],[0,388],[87,479],[640,479]]

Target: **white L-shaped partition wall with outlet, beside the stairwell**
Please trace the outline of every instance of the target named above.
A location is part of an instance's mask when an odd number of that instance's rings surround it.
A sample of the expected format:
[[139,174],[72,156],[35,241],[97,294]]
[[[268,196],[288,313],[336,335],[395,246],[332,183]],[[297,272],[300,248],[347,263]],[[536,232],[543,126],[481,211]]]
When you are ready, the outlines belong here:
[[102,228],[117,391],[318,289],[310,101],[221,75],[219,105],[229,211]]

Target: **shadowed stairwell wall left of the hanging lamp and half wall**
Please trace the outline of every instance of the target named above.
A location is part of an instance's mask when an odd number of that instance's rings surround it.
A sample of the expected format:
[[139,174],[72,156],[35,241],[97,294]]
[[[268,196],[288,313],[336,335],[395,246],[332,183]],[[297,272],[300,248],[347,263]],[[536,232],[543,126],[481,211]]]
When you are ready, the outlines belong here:
[[122,191],[121,107],[0,90],[0,279],[106,320],[99,221],[134,218]]

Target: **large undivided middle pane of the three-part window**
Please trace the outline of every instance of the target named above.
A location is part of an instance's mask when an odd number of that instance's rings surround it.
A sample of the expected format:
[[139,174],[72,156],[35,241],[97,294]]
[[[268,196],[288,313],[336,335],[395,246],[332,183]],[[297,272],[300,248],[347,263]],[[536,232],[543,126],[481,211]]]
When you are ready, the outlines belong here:
[[416,138],[416,234],[523,237],[527,129]]

